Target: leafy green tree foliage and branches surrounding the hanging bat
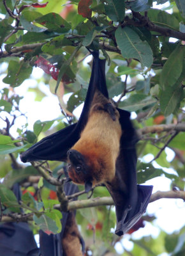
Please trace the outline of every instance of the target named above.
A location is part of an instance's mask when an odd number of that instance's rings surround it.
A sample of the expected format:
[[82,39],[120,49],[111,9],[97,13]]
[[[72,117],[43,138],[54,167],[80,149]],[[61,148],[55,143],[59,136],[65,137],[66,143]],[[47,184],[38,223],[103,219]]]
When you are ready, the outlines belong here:
[[[152,8],[154,2],[156,7]],[[168,3],[168,7],[159,10],[159,4],[163,3]],[[60,191],[56,193],[56,185],[58,178],[63,177],[65,164],[24,165],[18,160],[18,154],[46,134],[76,122],[73,111],[85,99],[91,74],[91,61],[89,65],[84,62],[91,55],[87,48],[100,50],[101,58],[107,59],[110,97],[115,97],[119,108],[135,113],[133,123],[141,139],[137,144],[138,184],[163,175],[171,180],[172,193],[160,196],[185,198],[183,193],[178,194],[184,190],[185,163],[184,0],[75,0],[70,4],[63,0],[47,3],[3,0],[0,13],[0,73],[3,76],[0,177],[4,178],[0,184],[1,220],[22,220],[22,208],[26,214],[24,220],[34,220],[34,234],[39,228],[48,234],[61,231],[59,203],[63,198],[59,196]],[[55,120],[37,120],[32,131],[27,129],[25,121],[12,134],[22,116],[24,120],[27,118],[20,110],[22,96],[16,93],[16,88],[34,77],[34,67],[41,68],[45,74],[41,80],[35,79],[36,86],[29,91],[35,93],[41,105],[46,93],[41,90],[40,82],[45,83],[45,87],[49,84],[50,92],[59,100],[61,116]],[[63,96],[69,92],[72,94],[65,104]],[[174,159],[170,162],[166,160],[166,147],[174,151]],[[153,156],[150,163],[144,161],[147,154]],[[158,163],[159,168],[155,168],[154,163]],[[175,174],[167,173],[164,168],[172,168]],[[22,189],[20,204],[11,191],[15,182],[19,182]],[[99,187],[94,189],[93,197],[96,196],[109,194]],[[79,199],[87,199],[87,195]],[[145,216],[144,220],[152,221],[154,216]],[[114,246],[119,239],[110,233],[110,228],[115,226],[111,207],[99,205],[78,209],[77,223],[93,255],[106,255],[107,252],[116,255]],[[135,230],[140,227],[143,221]],[[171,236],[161,231],[156,239],[149,236],[139,241],[130,237],[133,250],[127,252],[125,248],[124,252],[137,256],[163,252],[184,255],[183,231],[182,228]],[[98,237],[95,245],[92,240],[89,242],[93,234]]]

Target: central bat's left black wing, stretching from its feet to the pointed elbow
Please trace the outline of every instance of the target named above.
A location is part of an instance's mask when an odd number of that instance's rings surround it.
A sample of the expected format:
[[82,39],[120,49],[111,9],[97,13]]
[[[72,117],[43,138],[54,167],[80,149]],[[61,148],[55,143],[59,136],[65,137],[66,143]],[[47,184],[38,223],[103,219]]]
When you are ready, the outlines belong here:
[[31,148],[20,155],[22,162],[38,160],[65,161],[66,153],[80,138],[80,132],[87,123],[89,109],[94,93],[98,89],[108,98],[105,80],[105,60],[100,60],[99,52],[92,52],[94,60],[89,81],[89,88],[84,102],[82,114],[76,124],[72,124],[60,131],[38,141]]

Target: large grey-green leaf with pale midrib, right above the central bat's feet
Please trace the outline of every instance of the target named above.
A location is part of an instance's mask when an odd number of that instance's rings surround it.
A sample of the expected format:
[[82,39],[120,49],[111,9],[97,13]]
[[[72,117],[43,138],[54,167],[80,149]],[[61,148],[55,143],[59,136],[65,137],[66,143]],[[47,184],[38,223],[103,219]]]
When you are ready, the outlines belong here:
[[115,38],[124,58],[135,58],[140,61],[142,67],[150,67],[152,65],[151,47],[146,41],[140,40],[140,37],[133,29],[119,27],[115,31]]

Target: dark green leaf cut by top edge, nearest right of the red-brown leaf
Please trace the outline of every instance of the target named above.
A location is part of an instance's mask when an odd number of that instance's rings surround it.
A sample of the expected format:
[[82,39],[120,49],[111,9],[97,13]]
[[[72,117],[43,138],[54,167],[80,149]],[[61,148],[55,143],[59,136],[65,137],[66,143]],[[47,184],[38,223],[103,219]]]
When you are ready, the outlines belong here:
[[120,0],[107,0],[108,4],[104,5],[105,12],[108,17],[113,21],[124,20],[125,6],[124,1]]

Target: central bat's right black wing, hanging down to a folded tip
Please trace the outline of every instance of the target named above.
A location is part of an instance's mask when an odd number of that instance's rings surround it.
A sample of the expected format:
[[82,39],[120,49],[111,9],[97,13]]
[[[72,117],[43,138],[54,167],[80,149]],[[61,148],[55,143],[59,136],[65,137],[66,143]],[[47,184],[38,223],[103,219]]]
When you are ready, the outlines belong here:
[[137,185],[138,136],[129,119],[129,112],[118,109],[122,127],[120,153],[116,161],[115,179],[107,189],[115,203],[117,227],[115,234],[125,234],[144,214],[152,193],[152,186]]

